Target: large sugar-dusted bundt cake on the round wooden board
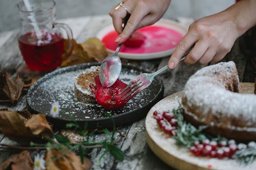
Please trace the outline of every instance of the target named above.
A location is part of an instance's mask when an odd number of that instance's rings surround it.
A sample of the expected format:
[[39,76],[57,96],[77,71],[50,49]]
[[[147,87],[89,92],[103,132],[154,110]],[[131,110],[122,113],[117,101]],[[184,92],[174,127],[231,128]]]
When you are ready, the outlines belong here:
[[234,62],[198,70],[184,88],[184,117],[205,131],[239,141],[256,140],[256,95],[239,92]]

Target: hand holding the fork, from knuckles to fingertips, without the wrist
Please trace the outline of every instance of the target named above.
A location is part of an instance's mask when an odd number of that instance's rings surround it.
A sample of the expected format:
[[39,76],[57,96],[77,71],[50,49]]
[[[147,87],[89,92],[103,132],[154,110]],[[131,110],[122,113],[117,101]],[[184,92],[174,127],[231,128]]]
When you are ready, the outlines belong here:
[[238,28],[233,22],[233,17],[227,12],[203,17],[189,26],[187,34],[170,57],[168,66],[174,69],[194,44],[184,60],[186,64],[220,61],[231,50],[238,37]]

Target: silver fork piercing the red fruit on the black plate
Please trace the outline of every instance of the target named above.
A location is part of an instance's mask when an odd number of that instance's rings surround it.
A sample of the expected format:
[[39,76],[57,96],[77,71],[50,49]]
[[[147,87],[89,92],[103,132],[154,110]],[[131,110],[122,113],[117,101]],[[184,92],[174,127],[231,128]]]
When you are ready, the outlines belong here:
[[[192,50],[193,46],[183,55],[180,61],[184,60],[186,55]],[[121,99],[126,103],[137,95],[140,91],[144,90],[153,82],[154,77],[168,68],[168,65],[151,74],[143,73],[137,76],[123,91],[120,93]]]

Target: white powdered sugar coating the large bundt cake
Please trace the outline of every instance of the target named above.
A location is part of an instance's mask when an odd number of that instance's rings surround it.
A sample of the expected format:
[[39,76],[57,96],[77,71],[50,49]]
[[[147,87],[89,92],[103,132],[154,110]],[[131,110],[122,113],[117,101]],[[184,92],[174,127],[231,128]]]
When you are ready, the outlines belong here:
[[[211,123],[211,126],[223,124],[221,119],[236,118],[248,126],[247,131],[256,131],[256,95],[241,94],[226,89],[226,87],[232,89],[232,84],[239,86],[238,82],[236,65],[232,61],[200,69],[185,85],[183,96],[187,105],[184,106],[185,112],[201,121],[208,121],[208,117],[213,114],[218,117],[219,122]],[[196,108],[196,112],[200,114],[190,113],[187,107]],[[243,129],[232,125],[229,125],[229,128]]]

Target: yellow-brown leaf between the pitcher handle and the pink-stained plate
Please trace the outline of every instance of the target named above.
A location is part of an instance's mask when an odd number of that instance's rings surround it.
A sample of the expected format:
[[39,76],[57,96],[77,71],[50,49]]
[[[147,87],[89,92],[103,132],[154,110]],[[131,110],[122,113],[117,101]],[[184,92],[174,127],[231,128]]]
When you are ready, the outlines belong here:
[[89,58],[98,62],[108,56],[105,45],[98,38],[89,38],[81,43],[81,45],[83,50],[87,52]]

